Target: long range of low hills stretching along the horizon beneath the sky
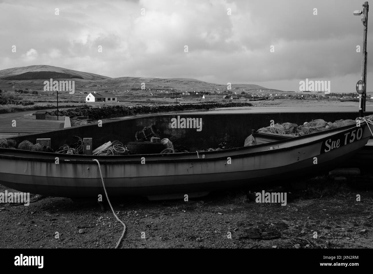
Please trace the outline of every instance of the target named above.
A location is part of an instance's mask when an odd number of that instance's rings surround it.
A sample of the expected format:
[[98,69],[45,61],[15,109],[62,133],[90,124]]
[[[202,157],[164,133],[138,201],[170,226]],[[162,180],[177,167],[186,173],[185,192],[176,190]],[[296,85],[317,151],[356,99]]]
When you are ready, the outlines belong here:
[[[0,70],[0,86],[15,89],[31,88],[41,90],[44,87],[43,80],[53,79],[74,79],[77,91],[114,91],[140,89],[145,83],[145,89],[178,89],[178,90],[226,90],[226,84],[214,84],[197,79],[188,78],[145,78],[145,77],[119,77],[110,78],[94,73],[80,72],[77,70],[65,69],[47,65],[33,65],[26,67],[13,67]],[[37,81],[35,81],[37,80]],[[14,83],[14,84],[13,84]],[[254,84],[232,84],[232,90],[269,90],[264,86]],[[271,89],[271,92],[282,92]]]

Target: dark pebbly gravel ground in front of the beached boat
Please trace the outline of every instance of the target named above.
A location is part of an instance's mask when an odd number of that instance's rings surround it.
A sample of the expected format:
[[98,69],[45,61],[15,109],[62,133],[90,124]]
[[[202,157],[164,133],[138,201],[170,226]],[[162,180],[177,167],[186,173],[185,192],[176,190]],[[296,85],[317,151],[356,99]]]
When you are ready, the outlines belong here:
[[[373,248],[373,191],[315,182],[286,190],[286,206],[249,201],[248,190],[112,201],[127,227],[120,248]],[[108,204],[102,211],[94,201],[43,197],[0,210],[0,248],[114,248],[123,231]]]

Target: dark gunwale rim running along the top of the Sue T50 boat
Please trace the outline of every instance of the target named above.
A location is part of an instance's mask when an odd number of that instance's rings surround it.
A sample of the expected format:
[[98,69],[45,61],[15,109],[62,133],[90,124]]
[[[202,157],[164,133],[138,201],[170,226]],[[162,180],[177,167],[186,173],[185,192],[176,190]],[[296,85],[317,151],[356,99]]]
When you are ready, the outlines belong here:
[[[327,130],[328,132],[335,132],[335,131],[341,131],[342,129],[345,129],[345,130],[342,130],[341,132],[339,133],[343,133],[343,132],[346,132],[348,130],[351,130],[353,129],[354,127],[358,127],[358,126],[354,126],[352,127],[352,125],[354,124],[351,124],[351,125],[346,125],[346,126],[343,126],[343,127],[337,127],[335,129],[330,129]],[[360,127],[361,126],[365,126],[367,125],[366,122],[362,122],[360,123]],[[369,126],[369,125],[367,125]],[[260,145],[255,145],[255,146],[248,146],[248,147],[239,147],[239,148],[231,148],[231,149],[223,149],[223,150],[219,150],[219,151],[205,151],[205,152],[199,152],[199,154],[206,154],[206,155],[213,155],[213,154],[227,154],[229,152],[235,152],[235,151],[242,151],[242,150],[245,150],[245,149],[252,149],[253,147],[267,147],[269,144],[271,144],[271,146],[273,145],[278,145],[278,144],[282,144],[282,143],[285,143],[285,142],[292,142],[292,141],[297,141],[299,139],[304,139],[304,138],[310,138],[310,137],[313,137],[313,136],[317,136],[317,135],[321,135],[323,133],[325,133],[326,130],[324,131],[320,131],[320,132],[315,132],[315,133],[311,133],[311,134],[307,134],[307,135],[303,135],[303,136],[298,136],[298,137],[294,137],[294,138],[289,138],[289,139],[284,139],[284,140],[280,140],[280,141],[275,141],[275,142],[270,142],[270,143],[266,143],[266,144],[260,144]],[[339,134],[339,133],[336,133],[336,134]],[[326,137],[324,137],[326,138]],[[252,156],[256,156],[256,155],[264,155],[264,154],[272,154],[272,153],[279,153],[279,152],[283,152],[283,151],[287,151],[287,150],[290,150],[290,149],[294,149],[294,148],[298,148],[298,147],[304,147],[304,146],[307,146],[307,145],[312,145],[312,144],[316,144],[317,142],[320,142],[322,139],[324,138],[320,138],[320,139],[317,139],[317,140],[314,140],[314,141],[311,141],[311,142],[307,142],[307,143],[303,143],[303,144],[299,144],[299,145],[295,145],[295,146],[289,146],[289,147],[285,147],[285,148],[278,148],[278,149],[270,149],[270,150],[265,150],[265,151],[256,151],[256,152],[248,152],[248,153],[244,153],[244,154],[237,154],[237,155],[234,155],[235,158],[245,158],[245,157],[252,157]],[[359,140],[360,141],[360,140]],[[146,160],[147,163],[178,163],[178,162],[195,162],[195,161],[217,161],[217,160],[226,160],[226,157],[230,157],[230,155],[224,155],[224,156],[220,156],[220,157],[210,157],[210,158],[174,158],[174,159],[164,159],[162,160],[161,158],[162,157],[165,157],[165,156],[175,156],[175,157],[179,157],[179,156],[183,156],[183,155],[197,155],[197,152],[181,152],[181,153],[165,153],[165,154],[138,154],[138,155],[113,155],[113,156],[99,156],[99,155],[81,155],[81,154],[59,154],[59,153],[55,153],[55,152],[38,152],[38,151],[28,151],[28,150],[21,150],[21,149],[17,149],[17,151],[19,151],[20,153],[25,153],[25,154],[28,154],[28,155],[48,155],[48,156],[51,156],[53,158],[41,158],[41,157],[21,157],[21,156],[15,156],[15,155],[4,155],[4,154],[1,154],[1,151],[14,151],[14,149],[10,149],[10,148],[0,148],[0,159],[9,159],[9,160],[24,160],[24,161],[39,161],[39,162],[55,162],[55,157],[59,157],[59,158],[62,158],[62,157],[66,157],[68,155],[68,157],[70,159],[62,159],[65,163],[79,163],[79,164],[92,164],[93,163],[93,160],[74,160],[74,159],[71,159],[73,157],[82,157],[82,158],[95,158],[97,160],[100,161],[100,163],[102,164],[141,164],[141,157],[154,157],[154,155],[159,155],[159,159],[154,159],[154,160]],[[120,160],[105,160],[107,159],[107,157],[110,157],[110,159],[116,159],[116,158],[119,158]],[[124,158],[124,159],[123,159]],[[137,158],[137,160],[127,160],[125,158]]]

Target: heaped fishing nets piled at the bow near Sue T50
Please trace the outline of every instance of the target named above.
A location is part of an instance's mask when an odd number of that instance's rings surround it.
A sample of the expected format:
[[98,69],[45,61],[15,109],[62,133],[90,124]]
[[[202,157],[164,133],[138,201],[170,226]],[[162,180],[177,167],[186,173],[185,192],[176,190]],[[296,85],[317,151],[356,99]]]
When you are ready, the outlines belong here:
[[[371,115],[373,119],[373,115]],[[369,116],[366,117],[368,119]],[[335,129],[337,127],[342,127],[342,126],[348,126],[355,124],[356,120],[337,120],[335,122],[326,122],[323,119],[317,119],[317,120],[312,120],[311,122],[306,122],[301,126],[298,126],[297,124],[294,123],[282,123],[279,124],[277,123],[274,126],[267,126],[267,127],[262,127],[258,129],[258,132],[266,132],[266,133],[278,133],[278,134],[288,134],[288,135],[294,135],[294,136],[303,136],[315,132],[320,132],[324,130],[329,130],[329,129]],[[254,145],[254,138],[253,135],[248,136],[245,139],[244,147],[248,147]]]

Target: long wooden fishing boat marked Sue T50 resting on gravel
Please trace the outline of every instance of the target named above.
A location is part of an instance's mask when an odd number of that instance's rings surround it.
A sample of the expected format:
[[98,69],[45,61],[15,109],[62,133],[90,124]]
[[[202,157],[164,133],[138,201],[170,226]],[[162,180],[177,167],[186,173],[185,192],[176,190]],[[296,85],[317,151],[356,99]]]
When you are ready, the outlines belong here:
[[372,128],[362,122],[273,139],[254,133],[255,145],[199,153],[93,156],[0,148],[0,184],[48,196],[97,197],[103,195],[101,169],[109,196],[182,198],[270,182],[283,185],[337,167],[367,144]]

